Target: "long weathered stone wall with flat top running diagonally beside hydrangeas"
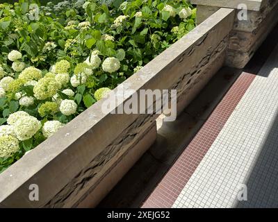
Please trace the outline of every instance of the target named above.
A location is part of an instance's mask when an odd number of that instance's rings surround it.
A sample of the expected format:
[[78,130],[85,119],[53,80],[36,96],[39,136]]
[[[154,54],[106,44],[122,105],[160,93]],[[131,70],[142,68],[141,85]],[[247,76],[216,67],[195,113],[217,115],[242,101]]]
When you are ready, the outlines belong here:
[[[113,90],[177,89],[178,112],[224,62],[234,10],[220,9]],[[133,90],[131,90],[133,89]],[[0,207],[94,207],[156,139],[159,114],[101,112],[101,100],[0,174]],[[154,105],[157,101],[154,101]],[[29,185],[40,189],[30,201]]]

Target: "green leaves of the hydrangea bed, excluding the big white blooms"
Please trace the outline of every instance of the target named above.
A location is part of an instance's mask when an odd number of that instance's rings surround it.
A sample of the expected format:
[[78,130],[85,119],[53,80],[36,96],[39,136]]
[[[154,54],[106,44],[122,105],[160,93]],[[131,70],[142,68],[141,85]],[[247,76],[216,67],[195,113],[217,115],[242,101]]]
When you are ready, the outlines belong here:
[[[5,76],[16,79],[20,74],[20,71],[13,70],[13,62],[8,60],[8,53],[13,50],[22,53],[19,61],[24,62],[25,67],[40,69],[42,76],[60,60],[70,62],[67,70],[70,77],[79,76],[80,73],[74,74],[74,68],[92,52],[99,51],[101,60],[94,69],[88,68],[92,74],[86,77],[85,83],[78,87],[71,85],[70,81],[61,85],[57,98],[38,100],[34,97],[33,85],[22,85],[18,92],[34,98],[34,103],[26,107],[20,105],[19,99],[15,99],[15,92],[6,92],[6,96],[0,98],[0,126],[6,124],[10,114],[19,110],[36,117],[42,125],[51,120],[61,123],[71,121],[96,102],[93,95],[97,89],[113,89],[131,76],[134,68],[144,66],[195,28],[196,10],[186,0],[123,2],[79,0],[54,4],[53,1],[42,3],[20,0],[16,3],[0,3],[0,67]],[[165,10],[167,5],[172,6],[175,16]],[[179,16],[183,8],[193,9],[186,19]],[[120,69],[114,72],[104,71],[101,65],[108,57],[117,58]],[[0,78],[3,76],[0,75]],[[72,89],[74,95],[68,96],[62,92],[63,89]],[[60,111],[45,116],[38,113],[42,103],[58,103],[63,99],[75,101],[78,106],[76,113],[70,116],[65,116]],[[46,138],[40,130],[31,139],[20,142],[20,151],[13,157],[0,158],[0,172],[44,139]]]

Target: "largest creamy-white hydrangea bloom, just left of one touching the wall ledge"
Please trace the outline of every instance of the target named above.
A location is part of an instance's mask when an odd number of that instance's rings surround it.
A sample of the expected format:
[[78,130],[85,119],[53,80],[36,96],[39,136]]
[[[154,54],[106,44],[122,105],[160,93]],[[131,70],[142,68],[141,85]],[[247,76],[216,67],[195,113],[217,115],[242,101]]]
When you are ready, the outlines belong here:
[[37,133],[42,127],[42,123],[40,123],[35,117],[28,115],[15,121],[13,127],[17,139],[24,141],[33,137],[33,135],[35,135],[35,133]]

